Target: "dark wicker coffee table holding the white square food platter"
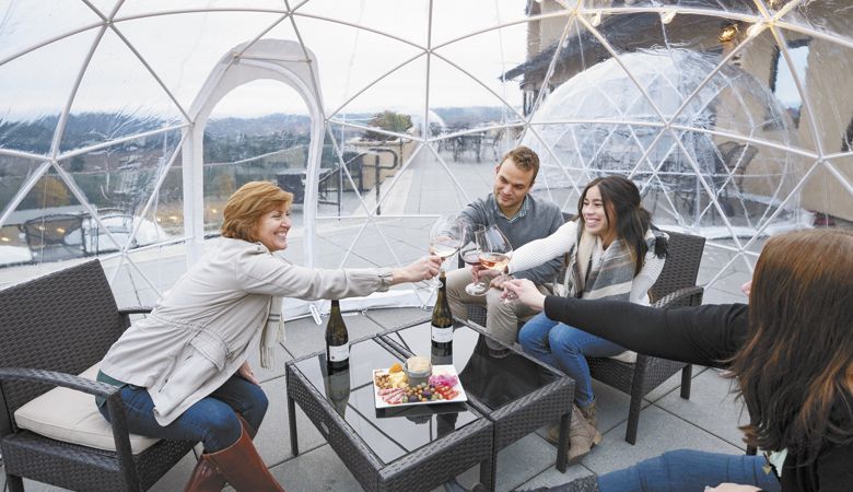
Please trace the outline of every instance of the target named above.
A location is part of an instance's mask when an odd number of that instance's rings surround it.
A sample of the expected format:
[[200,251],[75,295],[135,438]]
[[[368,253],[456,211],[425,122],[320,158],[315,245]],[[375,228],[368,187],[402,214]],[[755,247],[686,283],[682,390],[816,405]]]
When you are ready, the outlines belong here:
[[329,375],[323,352],[289,362],[293,455],[299,455],[299,405],[365,490],[429,491],[478,464],[493,475],[493,422],[475,406],[375,408],[372,371],[404,359],[371,337],[351,343],[344,373]]

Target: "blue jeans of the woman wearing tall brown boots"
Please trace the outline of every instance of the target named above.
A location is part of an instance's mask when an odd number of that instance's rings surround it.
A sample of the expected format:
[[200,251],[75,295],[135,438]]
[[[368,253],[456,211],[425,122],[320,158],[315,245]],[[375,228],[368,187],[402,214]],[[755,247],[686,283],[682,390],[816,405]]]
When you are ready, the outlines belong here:
[[[165,427],[154,419],[154,402],[145,388],[125,386],[121,400],[127,426],[133,434],[163,440],[201,442],[206,453],[215,453],[236,443],[243,432],[239,413],[255,431],[260,427],[269,400],[260,386],[233,375],[217,390],[189,407]],[[107,406],[101,414],[109,421]]]

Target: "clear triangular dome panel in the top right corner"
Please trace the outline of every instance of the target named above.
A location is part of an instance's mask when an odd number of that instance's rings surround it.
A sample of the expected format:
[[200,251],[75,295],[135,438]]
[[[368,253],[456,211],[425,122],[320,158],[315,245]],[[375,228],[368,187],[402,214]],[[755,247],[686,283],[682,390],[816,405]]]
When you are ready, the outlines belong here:
[[[768,0],[770,13],[776,15],[784,10],[790,1]],[[782,22],[790,22],[801,27],[815,30],[830,37],[853,42],[853,15],[851,4],[846,0],[801,1],[787,13],[782,15]]]

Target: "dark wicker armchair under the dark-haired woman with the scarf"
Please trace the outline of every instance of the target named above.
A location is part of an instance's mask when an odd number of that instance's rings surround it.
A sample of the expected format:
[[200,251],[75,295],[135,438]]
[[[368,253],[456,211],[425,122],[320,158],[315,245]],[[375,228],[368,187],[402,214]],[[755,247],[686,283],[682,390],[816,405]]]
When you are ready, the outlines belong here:
[[[698,306],[702,304],[703,288],[696,286],[699,263],[705,238],[689,234],[668,232],[669,254],[664,270],[657,278],[648,296],[654,306],[668,308]],[[692,288],[692,289],[691,289]],[[486,325],[486,309],[468,305],[468,319]],[[638,354],[635,363],[627,363],[608,358],[587,358],[589,372],[600,380],[620,391],[631,395],[628,413],[628,431],[624,440],[636,444],[636,427],[643,397],[666,379],[681,371],[681,398],[690,398],[692,365],[665,359]]]

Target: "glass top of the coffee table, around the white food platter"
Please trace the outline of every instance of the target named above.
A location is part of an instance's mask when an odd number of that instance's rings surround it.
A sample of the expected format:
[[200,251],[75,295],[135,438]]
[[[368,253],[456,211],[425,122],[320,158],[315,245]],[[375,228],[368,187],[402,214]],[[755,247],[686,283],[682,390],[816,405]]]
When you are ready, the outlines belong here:
[[377,410],[373,370],[395,362],[400,359],[366,339],[350,345],[350,366],[344,371],[329,374],[325,353],[294,364],[385,464],[482,418],[466,403]]

